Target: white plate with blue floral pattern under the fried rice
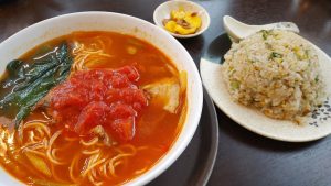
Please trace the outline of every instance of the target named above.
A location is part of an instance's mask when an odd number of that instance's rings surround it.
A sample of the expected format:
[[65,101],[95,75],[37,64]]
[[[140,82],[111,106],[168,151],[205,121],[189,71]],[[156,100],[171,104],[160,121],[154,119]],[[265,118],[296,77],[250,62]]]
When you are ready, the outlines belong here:
[[[213,43],[217,43],[220,45],[218,48],[221,50],[223,47],[224,50],[224,45],[228,45],[229,42],[229,40],[225,39],[226,37],[224,35],[220,36],[216,40],[223,41],[214,41]],[[327,84],[327,92],[330,96],[331,58],[316,45],[313,46],[317,50],[320,61],[320,68]],[[213,50],[215,53],[217,46],[214,46]],[[207,92],[213,98],[216,106],[242,127],[260,135],[288,142],[306,142],[318,140],[331,133],[330,99],[325,100],[323,106],[318,109],[317,113],[313,114],[313,118],[307,118],[307,122],[300,125],[291,121],[270,119],[253,108],[234,102],[231,99],[225,83],[223,81],[221,75],[221,64],[215,63],[215,58],[213,59],[205,56],[201,58],[200,70]],[[218,56],[218,58],[216,57],[216,59],[220,58],[221,56]]]

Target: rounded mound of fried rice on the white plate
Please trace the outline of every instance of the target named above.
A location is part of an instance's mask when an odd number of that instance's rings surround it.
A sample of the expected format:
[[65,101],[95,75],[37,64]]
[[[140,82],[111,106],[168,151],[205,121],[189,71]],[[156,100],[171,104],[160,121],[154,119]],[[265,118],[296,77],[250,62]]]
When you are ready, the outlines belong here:
[[222,74],[232,98],[270,118],[297,121],[323,101],[317,52],[292,32],[257,32],[233,43],[224,58]]

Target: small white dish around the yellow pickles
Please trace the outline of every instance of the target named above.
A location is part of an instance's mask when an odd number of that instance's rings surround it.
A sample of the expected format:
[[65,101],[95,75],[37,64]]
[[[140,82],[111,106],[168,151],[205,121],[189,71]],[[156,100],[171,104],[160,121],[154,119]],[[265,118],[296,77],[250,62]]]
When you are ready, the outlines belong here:
[[164,19],[169,19],[170,12],[172,10],[178,10],[179,8],[182,8],[184,11],[197,12],[199,17],[201,18],[202,25],[193,34],[182,35],[182,34],[175,34],[175,33],[169,32],[171,35],[179,37],[179,39],[193,37],[193,36],[202,34],[210,26],[211,19],[210,19],[207,11],[203,7],[199,6],[197,3],[194,3],[192,1],[186,1],[186,0],[171,0],[171,1],[166,1],[162,4],[160,4],[154,10],[154,13],[153,13],[153,20],[154,20],[156,25],[164,29],[162,21]]

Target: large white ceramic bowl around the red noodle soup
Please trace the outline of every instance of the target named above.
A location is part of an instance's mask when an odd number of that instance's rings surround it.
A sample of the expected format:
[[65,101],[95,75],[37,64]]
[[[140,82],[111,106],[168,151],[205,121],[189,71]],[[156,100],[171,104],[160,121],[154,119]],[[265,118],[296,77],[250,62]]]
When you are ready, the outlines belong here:
[[[180,70],[188,72],[188,116],[170,151],[148,172],[126,185],[143,185],[164,172],[191,141],[201,117],[203,92],[196,66],[185,48],[164,30],[138,18],[113,12],[79,12],[35,23],[0,44],[0,73],[7,62],[20,57],[34,46],[73,31],[113,31],[135,35],[157,46]],[[0,185],[19,186],[19,180],[0,168]]]

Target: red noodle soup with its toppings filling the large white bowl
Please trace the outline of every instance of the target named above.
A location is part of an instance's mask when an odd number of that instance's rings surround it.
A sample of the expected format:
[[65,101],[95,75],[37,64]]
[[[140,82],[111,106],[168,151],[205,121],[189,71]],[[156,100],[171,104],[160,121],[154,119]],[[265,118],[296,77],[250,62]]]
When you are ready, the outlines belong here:
[[[58,56],[64,43],[72,59],[67,75],[54,73],[57,84],[32,107],[24,105],[30,112],[21,120],[20,103],[0,110],[0,164],[30,185],[122,185],[175,141],[185,119],[185,73],[151,44],[113,32],[74,32],[46,42],[20,57],[22,69],[45,66],[44,58]],[[2,75],[2,99],[18,77]]]

